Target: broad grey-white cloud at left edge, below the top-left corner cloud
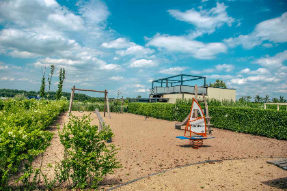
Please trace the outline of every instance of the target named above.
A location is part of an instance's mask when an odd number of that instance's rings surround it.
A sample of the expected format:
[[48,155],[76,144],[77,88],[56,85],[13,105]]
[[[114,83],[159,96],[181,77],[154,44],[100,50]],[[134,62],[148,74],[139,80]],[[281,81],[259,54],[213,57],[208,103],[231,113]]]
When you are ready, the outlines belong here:
[[53,55],[66,58],[84,58],[100,53],[98,50],[82,47],[74,40],[20,29],[3,29],[0,31],[0,44],[8,50],[13,50],[10,55],[14,57],[49,57]]

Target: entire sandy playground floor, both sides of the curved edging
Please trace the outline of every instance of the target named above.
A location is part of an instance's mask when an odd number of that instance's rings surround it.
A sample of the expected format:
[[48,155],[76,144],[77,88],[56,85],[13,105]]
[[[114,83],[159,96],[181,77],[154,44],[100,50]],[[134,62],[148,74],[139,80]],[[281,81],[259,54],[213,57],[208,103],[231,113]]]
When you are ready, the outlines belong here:
[[[90,114],[94,119],[92,125],[98,125],[95,113],[72,112],[76,117],[83,114]],[[100,115],[103,117],[103,113]],[[152,117],[145,119],[141,115],[129,113],[111,113],[111,119],[103,119],[115,135],[112,143],[121,148],[118,151],[118,160],[122,168],[105,177],[100,189],[287,189],[287,171],[267,164],[268,160],[287,157],[287,141],[213,128],[215,138],[205,140],[204,147],[193,149],[189,141],[176,138],[184,134],[184,130],[174,128],[177,121]],[[56,123],[62,128],[68,120],[68,113],[63,113]],[[55,135],[44,153],[43,166],[59,162],[64,153],[57,135],[57,126],[52,126],[51,131]],[[204,162],[206,160],[217,161]],[[202,163],[195,164],[197,162]],[[40,157],[33,162],[33,166],[39,165]],[[53,171],[49,168],[44,173],[48,177],[53,176]],[[135,179],[139,180],[134,181]],[[124,183],[126,185],[122,186]]]

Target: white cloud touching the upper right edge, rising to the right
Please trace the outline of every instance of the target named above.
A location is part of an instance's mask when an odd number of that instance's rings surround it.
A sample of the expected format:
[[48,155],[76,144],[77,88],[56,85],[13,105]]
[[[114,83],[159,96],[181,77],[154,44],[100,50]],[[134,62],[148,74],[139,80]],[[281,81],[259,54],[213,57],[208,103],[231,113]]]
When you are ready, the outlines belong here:
[[[231,47],[242,45],[243,48],[250,49],[262,44],[265,40],[273,43],[287,42],[286,33],[287,12],[277,18],[262,21],[248,35],[239,35],[237,38],[225,39],[224,42]],[[269,48],[271,45],[265,44],[264,47]]]

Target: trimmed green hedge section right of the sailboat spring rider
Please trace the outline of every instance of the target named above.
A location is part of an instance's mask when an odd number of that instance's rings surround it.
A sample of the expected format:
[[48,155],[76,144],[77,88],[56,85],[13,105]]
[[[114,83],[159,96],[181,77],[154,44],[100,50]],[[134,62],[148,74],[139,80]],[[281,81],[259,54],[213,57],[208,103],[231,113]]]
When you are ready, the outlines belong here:
[[257,108],[209,107],[216,128],[287,140],[287,112]]

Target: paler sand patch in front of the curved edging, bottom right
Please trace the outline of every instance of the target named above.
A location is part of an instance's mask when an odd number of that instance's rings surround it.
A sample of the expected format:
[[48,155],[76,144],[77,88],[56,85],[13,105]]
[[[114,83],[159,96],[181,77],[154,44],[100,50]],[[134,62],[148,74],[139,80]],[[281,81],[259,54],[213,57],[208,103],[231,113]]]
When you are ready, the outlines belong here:
[[266,158],[196,164],[141,179],[115,190],[284,190],[287,171]]

